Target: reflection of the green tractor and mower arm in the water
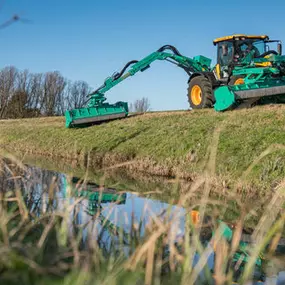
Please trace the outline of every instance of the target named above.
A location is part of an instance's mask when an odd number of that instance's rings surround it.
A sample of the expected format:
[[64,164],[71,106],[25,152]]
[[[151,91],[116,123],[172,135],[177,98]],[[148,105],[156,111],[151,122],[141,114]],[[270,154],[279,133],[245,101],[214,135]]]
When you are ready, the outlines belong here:
[[[139,223],[139,226],[136,227],[134,227],[134,225],[130,226],[130,224],[127,225],[126,221],[121,222],[119,225],[118,221],[120,218],[122,218],[122,215],[116,215],[111,212],[118,207],[127,208],[127,200],[130,199],[131,194],[126,192],[119,193],[115,189],[110,188],[105,189],[92,182],[84,182],[83,184],[80,184],[81,182],[82,181],[80,179],[73,177],[71,179],[71,183],[68,184],[66,182],[66,186],[72,186],[72,195],[79,198],[85,198],[83,201],[84,210],[81,209],[81,211],[78,211],[77,216],[80,218],[77,219],[77,224],[86,224],[90,222],[91,218],[92,223],[90,223],[90,225],[92,231],[84,231],[84,241],[86,242],[88,239],[94,238],[95,233],[97,243],[100,248],[103,249],[103,253],[106,256],[110,256],[111,251],[117,251],[119,249],[123,249],[127,255],[130,255],[135,250],[135,246],[139,244],[139,239],[144,235],[143,224],[145,221],[141,221]],[[132,220],[134,213],[127,213],[127,215],[131,215],[131,217],[127,218],[127,220]],[[208,251],[206,265],[208,266],[208,269],[210,269],[212,276],[215,276],[215,271],[219,270],[217,269],[217,262],[221,262],[221,260],[217,261],[217,258],[221,258],[221,256],[216,255],[216,252],[223,250],[223,247],[225,246],[228,246],[229,248],[231,247],[231,244],[233,242],[234,226],[220,220],[214,221],[210,216],[206,216],[201,223],[200,214],[198,211],[191,211],[190,218],[192,225],[196,227],[201,245],[203,246],[204,250]],[[97,226],[94,226],[93,222],[97,223]],[[217,230],[215,231],[214,229]],[[184,238],[185,235],[183,233],[183,230],[180,231],[180,234],[176,235],[175,247],[177,251],[182,255],[182,245],[184,244]],[[190,240],[192,238],[195,237],[191,235]],[[279,252],[282,252],[284,250],[285,247],[282,245],[278,246],[277,248],[277,251]],[[170,249],[168,245],[165,245],[163,249],[163,260],[169,260],[169,257]],[[201,256],[198,254],[198,252],[196,252],[194,254],[192,267],[195,267],[198,264],[200,258]],[[245,266],[250,258],[251,256],[249,243],[243,240],[239,241],[237,249],[232,254],[232,258],[230,258],[227,262],[226,273],[232,271],[233,280],[237,282],[242,276]],[[177,266],[179,265],[177,264]],[[270,284],[280,284],[279,281],[281,275],[279,274],[278,279],[278,271],[271,270],[271,272],[269,272],[269,266],[270,264],[268,264],[267,260],[264,259],[262,255],[259,255],[255,261],[253,280],[256,281],[254,281],[254,284],[268,284],[268,280],[271,279],[271,282],[274,281],[273,278],[275,278],[275,283]],[[162,274],[167,275],[170,273],[170,271],[170,263],[164,263],[162,266]],[[269,273],[270,275],[268,275]],[[279,280],[278,282],[277,279]],[[199,281],[206,281],[205,269],[201,270],[199,273]]]

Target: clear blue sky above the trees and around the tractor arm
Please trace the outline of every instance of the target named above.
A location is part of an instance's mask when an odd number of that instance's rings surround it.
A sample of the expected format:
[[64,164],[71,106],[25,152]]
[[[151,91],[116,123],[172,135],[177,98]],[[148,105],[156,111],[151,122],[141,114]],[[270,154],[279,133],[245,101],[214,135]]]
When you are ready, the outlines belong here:
[[[3,2],[3,1],[1,1]],[[164,44],[186,56],[205,55],[215,63],[212,40],[233,33],[268,34],[285,42],[285,1],[9,0],[4,21],[14,13],[33,21],[0,30],[0,66],[31,72],[58,70],[71,80],[100,86],[126,62]],[[153,110],[187,109],[187,75],[168,62],[108,92],[109,102],[148,97]]]

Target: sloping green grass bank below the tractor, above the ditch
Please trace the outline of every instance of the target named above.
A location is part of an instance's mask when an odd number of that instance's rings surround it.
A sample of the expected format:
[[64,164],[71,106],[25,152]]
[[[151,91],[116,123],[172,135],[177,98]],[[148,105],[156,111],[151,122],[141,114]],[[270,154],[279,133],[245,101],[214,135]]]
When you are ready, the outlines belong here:
[[0,121],[0,145],[84,166],[131,162],[133,170],[194,178],[220,129],[216,174],[237,179],[248,170],[251,182],[267,185],[284,175],[284,121],[285,106],[149,113],[84,129],[65,129],[62,117],[8,120]]

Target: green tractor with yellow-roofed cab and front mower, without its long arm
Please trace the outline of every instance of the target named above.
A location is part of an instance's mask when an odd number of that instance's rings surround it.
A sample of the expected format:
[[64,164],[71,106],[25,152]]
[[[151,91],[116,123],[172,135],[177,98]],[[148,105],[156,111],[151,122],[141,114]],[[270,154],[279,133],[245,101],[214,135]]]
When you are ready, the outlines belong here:
[[[276,50],[270,48],[274,43]],[[285,102],[285,56],[281,41],[270,40],[266,35],[233,35],[214,40],[214,45],[218,47],[217,64],[211,70],[215,79],[208,77],[213,104],[207,102],[209,95],[204,88],[200,104],[192,102],[193,108],[210,105],[216,111],[225,111],[258,103]],[[189,92],[191,101],[195,92],[193,89]]]

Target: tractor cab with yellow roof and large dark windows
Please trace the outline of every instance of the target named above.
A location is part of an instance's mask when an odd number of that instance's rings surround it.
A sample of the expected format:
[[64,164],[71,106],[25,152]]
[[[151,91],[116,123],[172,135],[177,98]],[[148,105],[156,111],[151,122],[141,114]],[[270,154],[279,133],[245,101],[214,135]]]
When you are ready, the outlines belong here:
[[[277,51],[271,49],[271,43],[277,42]],[[217,64],[215,75],[217,79],[228,79],[231,69],[240,65],[250,53],[253,58],[264,58],[269,54],[281,55],[281,42],[269,40],[267,35],[232,35],[214,40],[217,45]],[[260,64],[260,63],[259,63]]]

